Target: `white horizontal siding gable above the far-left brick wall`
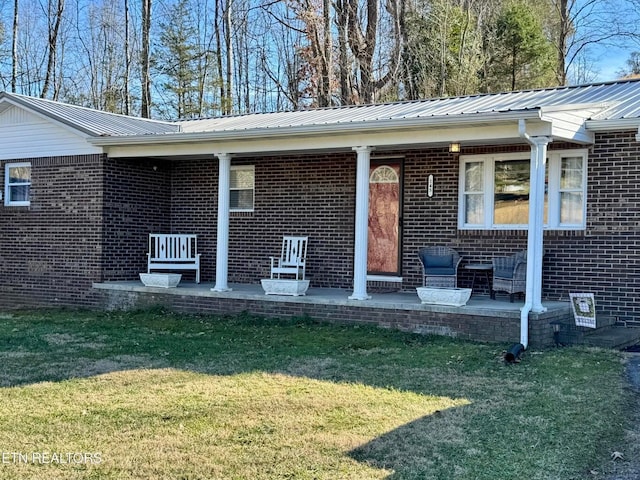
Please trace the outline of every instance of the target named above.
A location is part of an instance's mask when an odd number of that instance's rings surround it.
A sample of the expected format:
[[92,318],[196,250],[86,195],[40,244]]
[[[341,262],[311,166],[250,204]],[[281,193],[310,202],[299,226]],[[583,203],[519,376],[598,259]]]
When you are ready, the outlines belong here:
[[0,111],[0,160],[101,153],[83,133],[15,106]]

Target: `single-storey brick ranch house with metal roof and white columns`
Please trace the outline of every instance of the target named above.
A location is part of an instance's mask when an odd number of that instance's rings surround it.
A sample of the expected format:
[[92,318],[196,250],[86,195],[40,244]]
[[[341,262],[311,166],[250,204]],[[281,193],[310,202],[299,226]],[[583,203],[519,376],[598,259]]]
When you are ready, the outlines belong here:
[[[527,317],[569,292],[640,325],[639,127],[633,80],[181,122],[0,93],[0,307],[104,307],[96,285],[138,279],[149,233],[173,232],[198,235],[212,287],[174,306],[224,309],[293,234],[311,285],[349,305],[415,292],[426,245],[527,249],[525,346]],[[289,311],[259,305],[237,308]]]

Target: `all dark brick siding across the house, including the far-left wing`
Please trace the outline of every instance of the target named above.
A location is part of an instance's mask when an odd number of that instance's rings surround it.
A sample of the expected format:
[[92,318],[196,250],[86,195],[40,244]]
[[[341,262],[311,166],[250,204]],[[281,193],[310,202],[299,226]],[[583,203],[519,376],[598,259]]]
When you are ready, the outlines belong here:
[[[543,266],[545,298],[594,292],[598,311],[630,324],[640,324],[640,147],[635,133],[596,135],[588,159],[587,229],[545,232]],[[528,147],[463,153],[515,150],[528,152]],[[524,231],[457,229],[459,164],[446,149],[374,151],[372,159],[387,155],[403,158],[401,288],[420,285],[416,254],[424,245],[451,245],[468,262],[489,262],[526,247]],[[32,164],[31,207],[0,208],[0,305],[46,304],[53,298],[91,303],[92,281],[133,280],[145,270],[150,232],[198,234],[202,280],[213,281],[215,158],[163,162],[96,155],[33,159]],[[282,235],[304,234],[310,237],[312,285],[351,288],[355,153],[238,157],[232,164],[255,166],[255,209],[231,214],[229,281],[257,283],[268,275],[268,257],[279,253]],[[0,171],[4,175],[4,168]],[[461,271],[459,279],[465,284],[470,276]]]

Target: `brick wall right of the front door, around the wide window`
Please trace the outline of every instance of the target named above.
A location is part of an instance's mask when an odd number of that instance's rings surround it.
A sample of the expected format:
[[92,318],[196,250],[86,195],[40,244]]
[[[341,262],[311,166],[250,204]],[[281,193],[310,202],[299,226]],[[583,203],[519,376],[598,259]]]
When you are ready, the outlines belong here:
[[[569,292],[593,292],[597,310],[640,325],[640,146],[635,131],[598,134],[588,159],[587,228],[544,234],[543,297],[568,300]],[[551,144],[551,149],[571,148]],[[526,150],[526,147],[525,149]],[[513,151],[475,148],[465,154]],[[420,246],[452,245],[468,262],[527,246],[525,231],[458,231],[458,162],[444,151],[410,152],[405,160],[404,286],[418,285]],[[429,174],[433,198],[426,196]],[[469,282],[462,270],[459,282]]]

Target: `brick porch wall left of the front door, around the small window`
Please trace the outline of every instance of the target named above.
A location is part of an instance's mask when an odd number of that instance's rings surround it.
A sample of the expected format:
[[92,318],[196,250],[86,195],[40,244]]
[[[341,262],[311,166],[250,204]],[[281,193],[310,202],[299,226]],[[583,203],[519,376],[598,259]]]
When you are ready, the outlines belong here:
[[[314,286],[348,288],[353,271],[355,156],[234,159],[255,166],[255,209],[232,213],[229,281],[256,283],[269,276],[283,235],[309,235],[307,272]],[[203,281],[215,276],[218,162],[174,166],[174,231],[197,233]]]

